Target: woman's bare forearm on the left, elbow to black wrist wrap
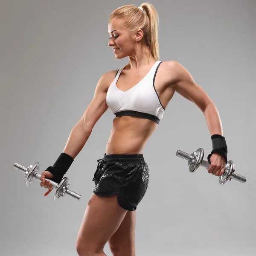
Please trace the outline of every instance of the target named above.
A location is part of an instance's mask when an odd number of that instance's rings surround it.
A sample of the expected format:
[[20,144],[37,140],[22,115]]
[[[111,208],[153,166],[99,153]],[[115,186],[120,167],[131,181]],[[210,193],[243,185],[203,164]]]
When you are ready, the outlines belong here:
[[91,132],[91,129],[82,128],[80,124],[77,123],[70,132],[63,153],[68,154],[75,159],[90,137]]

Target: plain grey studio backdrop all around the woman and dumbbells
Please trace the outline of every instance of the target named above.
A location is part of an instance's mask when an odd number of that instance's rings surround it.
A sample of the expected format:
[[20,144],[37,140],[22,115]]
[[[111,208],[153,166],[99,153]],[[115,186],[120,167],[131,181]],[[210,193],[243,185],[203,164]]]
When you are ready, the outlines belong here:
[[[81,193],[54,201],[38,181],[29,187],[14,162],[40,162],[40,173],[63,150],[69,133],[116,60],[108,16],[141,1],[0,1],[0,254],[76,255],[82,216],[93,191],[113,113],[95,125],[67,173]],[[160,16],[161,61],[183,64],[217,106],[228,158],[247,183],[224,186],[204,168],[190,174],[177,149],[209,154],[203,113],[178,93],[143,154],[148,191],[137,209],[137,255],[255,255],[255,0],[151,1]],[[105,253],[111,255],[108,244]]]

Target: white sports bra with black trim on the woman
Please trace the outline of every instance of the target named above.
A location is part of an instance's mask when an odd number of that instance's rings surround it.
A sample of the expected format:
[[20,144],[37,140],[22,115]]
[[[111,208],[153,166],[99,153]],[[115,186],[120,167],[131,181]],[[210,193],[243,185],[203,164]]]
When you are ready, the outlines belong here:
[[116,82],[125,66],[118,70],[106,96],[107,105],[115,116],[138,116],[159,124],[165,108],[154,87],[154,80],[161,63],[162,61],[157,61],[142,80],[125,92],[116,87]]

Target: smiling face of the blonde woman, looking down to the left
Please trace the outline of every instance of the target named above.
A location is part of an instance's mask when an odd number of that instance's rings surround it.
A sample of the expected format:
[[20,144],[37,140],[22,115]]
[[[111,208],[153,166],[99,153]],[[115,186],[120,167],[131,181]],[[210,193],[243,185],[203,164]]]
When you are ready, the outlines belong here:
[[135,54],[136,37],[122,25],[122,20],[114,18],[108,24],[109,42],[115,58],[121,59]]

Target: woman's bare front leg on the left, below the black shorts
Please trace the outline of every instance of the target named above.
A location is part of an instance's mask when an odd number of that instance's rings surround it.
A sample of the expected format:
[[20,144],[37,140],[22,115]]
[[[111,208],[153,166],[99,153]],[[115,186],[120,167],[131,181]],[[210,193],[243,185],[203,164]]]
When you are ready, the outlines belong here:
[[93,193],[84,212],[76,241],[79,256],[104,256],[103,248],[116,232],[127,210],[121,208],[116,195],[99,197]]

